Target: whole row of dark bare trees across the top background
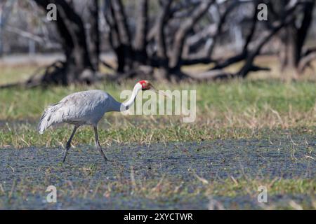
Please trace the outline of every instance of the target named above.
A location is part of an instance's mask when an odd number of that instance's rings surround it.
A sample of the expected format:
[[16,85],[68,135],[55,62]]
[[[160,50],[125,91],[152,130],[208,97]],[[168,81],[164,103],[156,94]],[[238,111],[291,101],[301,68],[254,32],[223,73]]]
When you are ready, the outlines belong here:
[[[29,85],[94,83],[104,77],[100,64],[114,70],[118,81],[136,76],[158,80],[244,78],[251,71],[269,69],[254,64],[263,52],[279,55],[281,70],[292,69],[299,76],[316,58],[316,48],[306,47],[315,8],[312,0],[138,0],[133,8],[121,0],[83,1],[88,13],[80,13],[76,1],[30,1],[43,13],[48,4],[57,6],[53,26],[65,61],[51,64],[44,74],[30,78]],[[265,5],[258,7],[262,3]],[[259,20],[265,9],[268,20]],[[232,25],[239,27],[237,40],[231,38]],[[232,42],[237,49],[227,48]],[[100,59],[104,43],[114,52],[117,66]],[[242,66],[234,73],[225,71],[239,62]],[[193,64],[211,67],[202,73],[181,70],[183,65]]]

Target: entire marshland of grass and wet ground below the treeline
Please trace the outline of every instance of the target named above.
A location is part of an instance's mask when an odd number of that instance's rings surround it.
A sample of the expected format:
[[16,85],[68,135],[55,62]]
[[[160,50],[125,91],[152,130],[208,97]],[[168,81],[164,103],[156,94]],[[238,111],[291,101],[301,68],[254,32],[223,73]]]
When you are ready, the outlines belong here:
[[[0,77],[18,80],[22,70]],[[99,129],[116,161],[107,164],[89,127],[77,132],[65,164],[71,127],[36,131],[44,108],[71,92],[97,88],[119,99],[134,84],[0,90],[0,209],[316,209],[312,80],[154,83],[197,90],[197,119],[109,113]],[[43,202],[49,185],[58,187],[58,204]],[[261,185],[268,204],[256,202]]]

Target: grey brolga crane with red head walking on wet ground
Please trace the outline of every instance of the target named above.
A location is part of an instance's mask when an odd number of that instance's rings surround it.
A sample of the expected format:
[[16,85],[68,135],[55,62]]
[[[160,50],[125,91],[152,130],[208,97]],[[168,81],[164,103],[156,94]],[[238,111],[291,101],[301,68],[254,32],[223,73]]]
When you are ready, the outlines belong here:
[[65,162],[67,153],[71,147],[72,138],[78,127],[81,125],[91,125],[96,137],[96,148],[98,148],[105,161],[107,161],[98,138],[98,123],[106,112],[128,110],[140,90],[154,90],[158,92],[150,82],[141,80],[134,86],[131,98],[124,103],[117,102],[110,94],[103,90],[88,90],[70,94],[59,103],[50,105],[45,109],[39,121],[38,131],[40,134],[43,134],[48,127],[59,123],[74,125],[74,130],[67,141],[62,158],[62,162]]

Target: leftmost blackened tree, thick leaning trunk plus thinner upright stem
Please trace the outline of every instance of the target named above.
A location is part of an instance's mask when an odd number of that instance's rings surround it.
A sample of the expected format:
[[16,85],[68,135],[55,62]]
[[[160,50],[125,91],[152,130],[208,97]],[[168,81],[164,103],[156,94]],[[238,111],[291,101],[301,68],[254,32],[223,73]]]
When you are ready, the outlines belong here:
[[84,22],[71,3],[65,0],[34,0],[46,10],[50,3],[57,6],[57,20],[52,21],[62,41],[65,61],[48,66],[44,75],[32,77],[29,85],[93,83],[98,79],[100,40],[98,34],[98,1],[90,3],[91,38],[88,43]]

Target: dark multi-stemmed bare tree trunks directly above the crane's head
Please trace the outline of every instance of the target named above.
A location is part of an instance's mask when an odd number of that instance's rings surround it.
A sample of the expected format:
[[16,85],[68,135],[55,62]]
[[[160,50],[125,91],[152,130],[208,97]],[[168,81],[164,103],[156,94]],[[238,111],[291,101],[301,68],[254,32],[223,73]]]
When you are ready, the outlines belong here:
[[[160,74],[156,78],[183,78],[185,74],[180,72],[180,66],[182,64],[182,54],[185,45],[185,40],[190,33],[192,27],[203,17],[208,10],[209,6],[213,3],[212,0],[201,1],[200,3],[192,3],[194,10],[192,14],[187,16],[187,19],[176,30],[175,37],[172,41],[172,45],[169,45],[169,50],[166,50],[167,38],[165,31],[168,26],[169,20],[173,17],[173,14],[178,12],[178,6],[172,7],[173,1],[161,1],[161,13],[154,22],[153,31],[148,31],[148,0],[140,1],[138,4],[138,19],[136,27],[136,38],[133,45],[133,39],[131,38],[131,31],[129,25],[126,22],[126,13],[124,11],[124,5],[121,0],[107,0],[105,18],[107,24],[110,27],[110,43],[114,52],[117,55],[119,73],[124,73],[122,76],[135,76],[139,71],[139,65],[146,65],[152,67],[159,67]],[[183,10],[182,7],[179,8]],[[153,54],[149,55],[146,51],[147,45],[150,40],[147,40],[146,36],[148,32],[151,32],[155,41],[154,48],[157,48]],[[149,69],[148,71],[152,71]],[[151,75],[151,74],[146,74]]]

